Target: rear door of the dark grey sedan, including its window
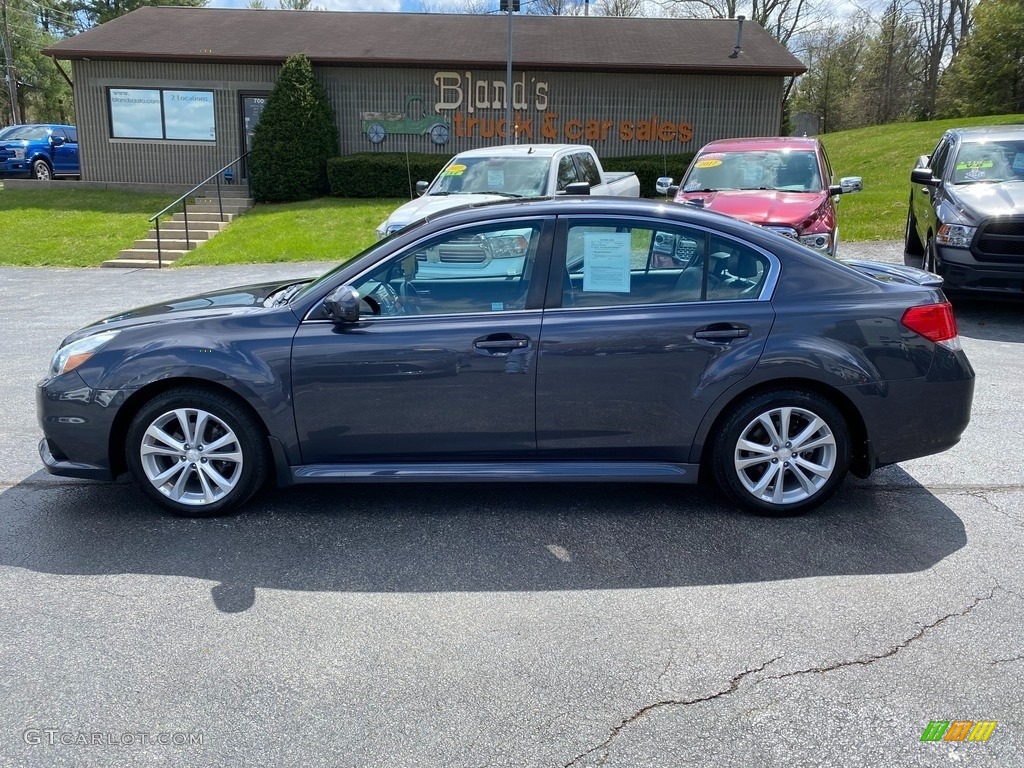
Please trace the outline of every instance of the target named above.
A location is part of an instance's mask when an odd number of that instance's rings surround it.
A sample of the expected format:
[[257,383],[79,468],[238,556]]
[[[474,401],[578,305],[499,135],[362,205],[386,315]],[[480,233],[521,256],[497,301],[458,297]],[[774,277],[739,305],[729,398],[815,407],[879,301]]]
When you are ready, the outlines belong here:
[[774,256],[697,227],[561,218],[538,367],[541,458],[689,461],[774,321]]

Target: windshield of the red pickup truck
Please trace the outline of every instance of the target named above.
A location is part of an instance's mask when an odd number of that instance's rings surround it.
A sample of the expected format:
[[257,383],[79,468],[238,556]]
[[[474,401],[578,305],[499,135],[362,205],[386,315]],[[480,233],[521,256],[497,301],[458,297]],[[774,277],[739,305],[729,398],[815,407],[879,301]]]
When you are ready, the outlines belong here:
[[682,190],[780,189],[821,191],[821,171],[811,151],[751,150],[700,155],[683,179]]

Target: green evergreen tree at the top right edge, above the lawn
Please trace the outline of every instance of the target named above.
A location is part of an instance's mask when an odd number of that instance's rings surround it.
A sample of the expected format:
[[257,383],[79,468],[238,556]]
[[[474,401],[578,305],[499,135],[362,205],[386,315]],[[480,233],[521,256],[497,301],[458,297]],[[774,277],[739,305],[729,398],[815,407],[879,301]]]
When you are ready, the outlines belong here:
[[943,117],[1024,111],[1024,4],[980,0],[974,27],[942,77]]

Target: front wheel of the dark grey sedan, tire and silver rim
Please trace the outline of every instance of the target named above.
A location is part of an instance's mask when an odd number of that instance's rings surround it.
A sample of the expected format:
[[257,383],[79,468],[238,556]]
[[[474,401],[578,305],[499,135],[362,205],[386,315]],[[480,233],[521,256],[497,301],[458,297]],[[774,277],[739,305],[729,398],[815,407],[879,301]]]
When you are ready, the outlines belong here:
[[268,469],[264,432],[249,412],[227,394],[198,387],[171,389],[144,404],[128,428],[126,454],[142,493],[183,517],[237,509]]

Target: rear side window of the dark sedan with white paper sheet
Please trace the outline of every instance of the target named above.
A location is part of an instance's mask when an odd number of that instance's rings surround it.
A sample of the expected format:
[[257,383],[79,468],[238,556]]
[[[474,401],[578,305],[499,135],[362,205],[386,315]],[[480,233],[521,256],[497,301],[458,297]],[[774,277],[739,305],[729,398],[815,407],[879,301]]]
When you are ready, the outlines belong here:
[[566,241],[563,306],[756,299],[768,259],[751,247],[688,227],[580,223]]

